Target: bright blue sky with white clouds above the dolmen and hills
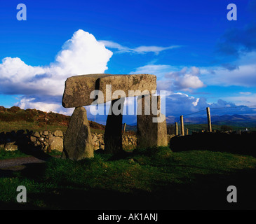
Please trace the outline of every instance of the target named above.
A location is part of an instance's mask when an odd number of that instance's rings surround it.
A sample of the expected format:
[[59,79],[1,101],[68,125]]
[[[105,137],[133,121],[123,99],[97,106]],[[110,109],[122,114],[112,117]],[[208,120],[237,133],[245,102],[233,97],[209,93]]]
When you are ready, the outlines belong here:
[[256,105],[255,0],[2,0],[0,27],[2,106],[70,114],[65,79],[86,73],[155,74],[167,117]]

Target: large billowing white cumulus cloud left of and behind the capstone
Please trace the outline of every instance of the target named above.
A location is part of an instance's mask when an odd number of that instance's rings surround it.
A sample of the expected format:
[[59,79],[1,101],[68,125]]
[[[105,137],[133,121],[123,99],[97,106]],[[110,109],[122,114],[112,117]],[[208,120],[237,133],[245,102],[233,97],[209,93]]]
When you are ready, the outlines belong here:
[[[69,76],[104,73],[112,54],[92,34],[79,29],[48,66],[30,66],[18,57],[2,59],[0,94],[23,95],[18,104],[22,108],[60,109],[65,80]],[[45,103],[49,97],[54,104]]]

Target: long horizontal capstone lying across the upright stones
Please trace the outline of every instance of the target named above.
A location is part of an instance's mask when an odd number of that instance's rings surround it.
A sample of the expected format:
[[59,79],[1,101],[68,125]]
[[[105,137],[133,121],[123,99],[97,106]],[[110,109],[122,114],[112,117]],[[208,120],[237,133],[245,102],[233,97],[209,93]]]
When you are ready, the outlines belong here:
[[[111,74],[90,74],[83,76],[72,76],[65,82],[65,91],[62,97],[62,106],[77,107],[92,104],[95,99],[90,99],[93,90],[100,90],[104,94],[102,103],[112,99],[106,99],[106,85],[112,85],[112,90],[107,91],[110,96],[116,90],[123,90],[128,97],[129,90],[156,90],[156,76],[149,74],[136,75],[111,75]],[[134,96],[141,95],[135,92]]]

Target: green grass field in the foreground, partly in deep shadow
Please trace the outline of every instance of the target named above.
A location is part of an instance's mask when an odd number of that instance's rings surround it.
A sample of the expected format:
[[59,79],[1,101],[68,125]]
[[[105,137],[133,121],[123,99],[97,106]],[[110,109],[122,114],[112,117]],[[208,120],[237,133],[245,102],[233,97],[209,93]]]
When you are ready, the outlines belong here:
[[[168,147],[120,158],[95,152],[80,161],[51,158],[20,172],[1,170],[0,207],[15,209],[255,209],[256,158]],[[27,188],[18,204],[15,189]],[[238,188],[229,204],[227,187]]]

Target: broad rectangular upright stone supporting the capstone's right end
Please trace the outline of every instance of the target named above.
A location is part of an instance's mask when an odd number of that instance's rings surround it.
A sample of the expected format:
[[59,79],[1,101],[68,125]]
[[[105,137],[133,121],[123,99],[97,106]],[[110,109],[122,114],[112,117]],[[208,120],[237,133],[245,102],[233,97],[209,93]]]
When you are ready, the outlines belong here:
[[166,116],[161,113],[160,105],[160,96],[138,97],[137,148],[168,146]]

